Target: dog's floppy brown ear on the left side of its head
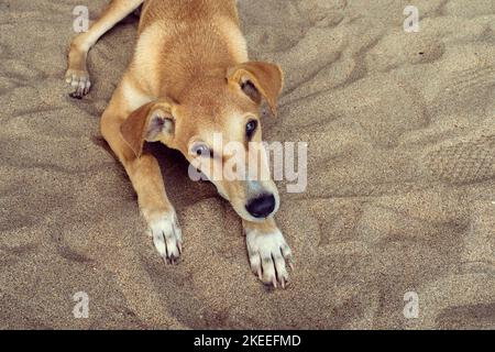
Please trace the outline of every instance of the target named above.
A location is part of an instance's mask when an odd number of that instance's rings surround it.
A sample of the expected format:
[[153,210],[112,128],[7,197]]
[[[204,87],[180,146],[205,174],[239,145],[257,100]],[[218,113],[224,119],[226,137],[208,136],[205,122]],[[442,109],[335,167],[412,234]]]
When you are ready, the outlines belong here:
[[144,142],[157,142],[173,138],[175,132],[174,105],[152,101],[134,112],[120,127],[123,140],[136,157],[143,153]]

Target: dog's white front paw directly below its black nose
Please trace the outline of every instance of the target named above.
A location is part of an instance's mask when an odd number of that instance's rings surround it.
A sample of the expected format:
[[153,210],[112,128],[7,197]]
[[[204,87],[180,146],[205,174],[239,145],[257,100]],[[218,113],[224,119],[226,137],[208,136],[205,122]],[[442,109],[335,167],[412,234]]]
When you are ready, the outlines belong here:
[[251,270],[266,285],[278,284],[285,288],[288,284],[287,264],[293,267],[292,251],[279,230],[261,233],[257,230],[246,231],[248,254]]

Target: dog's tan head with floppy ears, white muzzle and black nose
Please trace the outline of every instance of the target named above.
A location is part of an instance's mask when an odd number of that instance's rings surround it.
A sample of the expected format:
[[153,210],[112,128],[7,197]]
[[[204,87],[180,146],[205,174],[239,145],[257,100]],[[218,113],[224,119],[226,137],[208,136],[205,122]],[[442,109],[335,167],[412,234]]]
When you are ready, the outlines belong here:
[[145,141],[180,151],[243,219],[266,219],[278,210],[279,197],[262,145],[260,111],[266,102],[276,114],[283,80],[278,66],[257,62],[200,73],[180,101],[164,98],[134,111],[122,136],[136,156]]

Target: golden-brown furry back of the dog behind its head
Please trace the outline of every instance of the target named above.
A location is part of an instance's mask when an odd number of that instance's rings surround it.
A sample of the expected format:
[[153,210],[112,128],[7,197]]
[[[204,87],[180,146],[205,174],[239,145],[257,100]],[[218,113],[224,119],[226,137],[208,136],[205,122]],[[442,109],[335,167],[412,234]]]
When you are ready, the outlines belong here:
[[193,77],[248,61],[234,0],[146,1],[139,33],[131,72],[155,96],[177,99]]

